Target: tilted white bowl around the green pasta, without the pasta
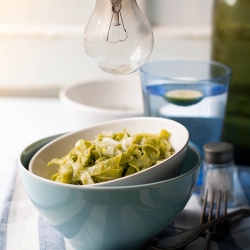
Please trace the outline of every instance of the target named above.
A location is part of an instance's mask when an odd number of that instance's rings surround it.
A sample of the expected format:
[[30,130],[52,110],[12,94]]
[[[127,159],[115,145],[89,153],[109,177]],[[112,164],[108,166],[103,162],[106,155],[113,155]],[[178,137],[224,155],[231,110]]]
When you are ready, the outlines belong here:
[[61,158],[74,148],[79,139],[93,140],[102,131],[121,132],[126,129],[130,134],[158,134],[161,129],[171,133],[169,142],[175,153],[146,170],[116,180],[96,183],[95,186],[127,186],[146,184],[178,176],[181,170],[189,141],[187,129],[178,122],[165,118],[136,117],[105,122],[90,128],[63,135],[41,148],[31,159],[29,171],[45,179],[50,179],[58,171],[58,166],[46,166],[53,158]]

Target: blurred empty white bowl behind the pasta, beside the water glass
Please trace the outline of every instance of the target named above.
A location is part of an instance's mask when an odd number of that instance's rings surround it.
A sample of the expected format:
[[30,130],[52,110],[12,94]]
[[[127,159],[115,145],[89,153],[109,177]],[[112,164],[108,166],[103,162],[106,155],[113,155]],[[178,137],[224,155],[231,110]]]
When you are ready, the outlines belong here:
[[65,86],[60,100],[77,128],[144,115],[140,82],[94,81]]

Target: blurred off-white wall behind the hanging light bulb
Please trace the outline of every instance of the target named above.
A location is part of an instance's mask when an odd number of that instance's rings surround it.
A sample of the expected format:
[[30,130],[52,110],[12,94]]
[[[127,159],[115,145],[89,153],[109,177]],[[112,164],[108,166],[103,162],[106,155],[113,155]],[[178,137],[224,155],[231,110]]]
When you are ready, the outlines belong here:
[[[153,25],[150,60],[209,57],[213,0],[137,2]],[[84,52],[83,32],[94,6],[95,0],[1,0],[0,96],[55,96],[65,84],[114,78]],[[127,76],[134,78],[139,72]]]

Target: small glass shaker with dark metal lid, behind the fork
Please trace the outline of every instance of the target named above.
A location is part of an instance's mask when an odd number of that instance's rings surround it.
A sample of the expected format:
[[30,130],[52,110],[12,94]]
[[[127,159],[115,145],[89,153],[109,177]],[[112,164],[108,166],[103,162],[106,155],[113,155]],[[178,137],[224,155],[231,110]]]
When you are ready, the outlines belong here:
[[208,190],[208,202],[212,199],[213,190],[215,200],[219,191],[227,194],[228,204],[234,200],[234,160],[233,145],[228,142],[210,142],[203,146],[203,185],[200,202],[203,202]]

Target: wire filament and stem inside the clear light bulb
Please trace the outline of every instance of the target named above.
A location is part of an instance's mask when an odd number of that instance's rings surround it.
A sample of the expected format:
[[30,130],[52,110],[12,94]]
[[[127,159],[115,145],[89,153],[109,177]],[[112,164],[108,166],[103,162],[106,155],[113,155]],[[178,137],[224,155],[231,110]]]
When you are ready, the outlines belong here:
[[[112,13],[111,21],[109,24],[109,30],[108,30],[106,41],[110,42],[110,43],[124,42],[128,38],[128,34],[127,34],[127,30],[124,26],[122,14],[121,14],[121,8],[122,8],[121,2],[122,2],[122,0],[110,0],[110,1],[112,3],[112,12],[113,13]],[[122,29],[123,29],[123,33],[124,33],[123,38],[121,38],[122,34],[120,34],[121,33],[120,28],[119,28],[119,26],[121,26],[120,20],[122,23]],[[111,41],[111,39],[110,39],[110,31],[111,31],[112,23],[113,23],[113,26],[117,27],[117,30],[114,32],[118,33],[118,38],[116,38],[116,40],[114,40],[114,41]]]

